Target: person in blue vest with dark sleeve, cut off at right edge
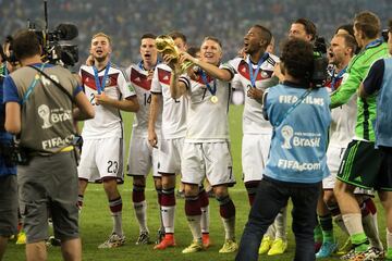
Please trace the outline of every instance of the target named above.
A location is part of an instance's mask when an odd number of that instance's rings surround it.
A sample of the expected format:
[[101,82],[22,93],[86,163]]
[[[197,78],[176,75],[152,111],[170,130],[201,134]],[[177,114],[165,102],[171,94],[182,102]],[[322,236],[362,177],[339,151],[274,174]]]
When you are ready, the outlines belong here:
[[[392,54],[392,20],[389,21],[388,48]],[[377,94],[377,120],[375,125],[376,146],[383,153],[382,171],[379,172],[377,183],[379,196],[385,210],[387,221],[387,253],[384,260],[392,260],[392,142],[391,117],[392,110],[392,58],[376,61],[359,89],[362,98],[371,99]]]

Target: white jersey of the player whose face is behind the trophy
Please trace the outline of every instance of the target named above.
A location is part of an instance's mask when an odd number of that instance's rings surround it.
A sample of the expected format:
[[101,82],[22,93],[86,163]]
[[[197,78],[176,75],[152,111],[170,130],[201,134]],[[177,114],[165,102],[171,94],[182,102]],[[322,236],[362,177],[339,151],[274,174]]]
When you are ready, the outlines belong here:
[[162,138],[174,139],[185,137],[187,99],[173,99],[170,94],[171,69],[167,64],[158,64],[154,71],[151,92],[162,95]]

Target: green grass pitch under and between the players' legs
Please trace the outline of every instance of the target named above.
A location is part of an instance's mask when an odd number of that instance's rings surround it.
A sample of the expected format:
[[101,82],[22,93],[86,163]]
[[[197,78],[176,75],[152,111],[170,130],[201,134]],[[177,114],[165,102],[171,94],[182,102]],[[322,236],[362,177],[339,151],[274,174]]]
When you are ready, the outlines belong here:
[[[233,169],[237,181],[236,186],[230,191],[236,207],[236,237],[240,241],[243,227],[247,221],[249,212],[248,199],[246,196],[244,184],[242,183],[242,167],[241,167],[241,142],[242,142],[242,112],[243,107],[230,108],[230,134],[231,134],[231,149],[233,156]],[[128,145],[133,114],[124,113],[125,121],[125,137],[126,145]],[[127,149],[126,149],[127,151]],[[151,234],[151,239],[156,239],[156,233],[159,228],[159,209],[157,206],[157,194],[154,189],[152,177],[148,176],[148,184],[146,189],[146,199],[148,203],[148,226]],[[120,186],[123,199],[123,226],[126,236],[125,246],[117,249],[98,249],[98,245],[103,243],[112,228],[112,221],[109,213],[107,198],[101,185],[89,185],[85,195],[84,209],[81,215],[81,236],[83,241],[83,260],[88,261],[120,261],[120,260],[137,260],[137,261],[223,261],[234,260],[235,254],[221,254],[218,250],[223,244],[223,226],[219,215],[219,207],[215,199],[210,199],[210,237],[213,246],[208,250],[183,254],[182,249],[185,248],[192,240],[191,232],[186,224],[184,214],[184,200],[177,199],[176,202],[176,217],[175,217],[175,240],[177,247],[169,248],[163,251],[152,250],[154,245],[136,246],[135,241],[138,236],[138,225],[134,216],[134,210],[131,200],[132,181],[125,177],[124,185]],[[384,241],[384,214],[381,206],[377,200],[379,212],[379,224],[381,238]],[[289,210],[291,207],[289,207]],[[289,211],[290,212],[290,211]],[[335,234],[340,244],[343,244],[345,236],[342,235],[338,228]],[[287,251],[278,257],[261,256],[259,260],[270,261],[286,261],[293,260],[295,243],[293,233],[291,232],[291,216],[287,216],[287,235],[289,248]],[[24,246],[10,243],[3,258],[4,261],[25,260]],[[59,247],[50,247],[48,249],[48,260],[62,260]],[[323,260],[339,260],[338,257]]]

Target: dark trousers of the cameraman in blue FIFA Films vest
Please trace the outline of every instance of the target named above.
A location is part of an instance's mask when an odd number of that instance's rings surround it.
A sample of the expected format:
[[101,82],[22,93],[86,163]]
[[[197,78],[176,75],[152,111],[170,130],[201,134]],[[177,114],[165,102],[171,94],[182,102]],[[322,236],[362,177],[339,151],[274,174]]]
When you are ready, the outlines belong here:
[[235,260],[258,260],[261,238],[269,225],[273,223],[279,211],[287,204],[289,198],[293,202],[292,228],[296,243],[294,260],[315,260],[314,228],[320,189],[321,183],[285,183],[265,176],[257,189],[256,199],[250,209]]

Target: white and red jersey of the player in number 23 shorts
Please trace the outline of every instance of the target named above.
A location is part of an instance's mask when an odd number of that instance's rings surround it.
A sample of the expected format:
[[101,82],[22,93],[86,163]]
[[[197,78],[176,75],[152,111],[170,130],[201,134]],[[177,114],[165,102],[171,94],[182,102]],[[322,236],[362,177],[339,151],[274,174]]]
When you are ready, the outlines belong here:
[[[94,97],[98,94],[93,66],[82,65],[79,70],[83,89],[87,99],[95,109],[95,117],[84,123],[82,136],[84,139],[101,139],[108,137],[123,137],[123,121],[120,110],[113,107],[99,105],[95,103]],[[105,69],[98,72],[101,82]],[[103,86],[103,84],[101,84]],[[105,83],[105,94],[117,100],[135,96],[135,90],[130,84],[124,72],[111,64]]]

